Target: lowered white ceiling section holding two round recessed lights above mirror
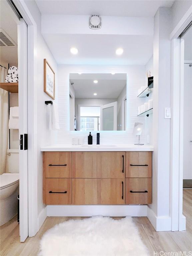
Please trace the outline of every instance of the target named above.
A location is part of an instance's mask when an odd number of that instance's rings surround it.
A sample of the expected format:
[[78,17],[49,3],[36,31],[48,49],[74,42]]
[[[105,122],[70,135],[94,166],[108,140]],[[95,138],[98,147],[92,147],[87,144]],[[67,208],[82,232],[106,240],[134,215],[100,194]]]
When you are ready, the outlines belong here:
[[[58,64],[145,65],[153,54],[150,35],[44,34]],[[77,55],[70,47],[78,49]],[[115,50],[124,49],[122,56]]]

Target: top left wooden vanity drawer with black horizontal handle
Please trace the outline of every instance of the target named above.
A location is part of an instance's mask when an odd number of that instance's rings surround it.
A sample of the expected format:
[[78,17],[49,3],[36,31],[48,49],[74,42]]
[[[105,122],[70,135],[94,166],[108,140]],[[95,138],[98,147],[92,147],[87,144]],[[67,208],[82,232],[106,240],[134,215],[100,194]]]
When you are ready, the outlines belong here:
[[71,178],[71,152],[43,152],[45,178]]

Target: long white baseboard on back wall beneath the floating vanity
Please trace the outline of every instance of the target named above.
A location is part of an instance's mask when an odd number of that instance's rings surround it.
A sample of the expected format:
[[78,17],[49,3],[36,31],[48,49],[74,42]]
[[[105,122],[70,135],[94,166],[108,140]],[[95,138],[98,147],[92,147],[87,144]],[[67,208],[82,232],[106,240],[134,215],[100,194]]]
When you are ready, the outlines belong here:
[[147,205],[47,205],[47,216],[90,217],[145,217]]

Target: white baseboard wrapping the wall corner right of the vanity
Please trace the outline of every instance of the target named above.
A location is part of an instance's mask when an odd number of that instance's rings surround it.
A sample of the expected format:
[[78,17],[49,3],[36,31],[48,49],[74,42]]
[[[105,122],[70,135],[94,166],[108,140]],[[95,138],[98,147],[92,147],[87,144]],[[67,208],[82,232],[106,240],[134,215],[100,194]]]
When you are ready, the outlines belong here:
[[147,218],[149,219],[149,221],[151,222],[156,231],[171,231],[171,217],[157,217],[153,210],[148,206]]

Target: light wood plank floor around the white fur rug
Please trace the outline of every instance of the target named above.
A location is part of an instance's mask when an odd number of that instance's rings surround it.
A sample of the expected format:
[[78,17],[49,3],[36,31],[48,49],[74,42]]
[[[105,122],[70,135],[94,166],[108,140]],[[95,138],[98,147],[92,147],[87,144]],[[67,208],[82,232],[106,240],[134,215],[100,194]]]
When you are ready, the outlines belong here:
[[[150,251],[179,252],[192,250],[192,189],[183,190],[183,214],[186,216],[186,231],[156,232],[147,217],[134,217],[141,237]],[[1,256],[36,256],[39,251],[39,241],[46,230],[55,224],[71,219],[72,217],[47,217],[40,231],[35,237],[28,237],[24,243],[19,242],[19,225],[14,217],[1,226]],[[120,218],[120,217],[119,217]],[[115,218],[115,219],[119,219]],[[82,219],[76,217],[73,219]]]

